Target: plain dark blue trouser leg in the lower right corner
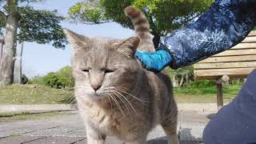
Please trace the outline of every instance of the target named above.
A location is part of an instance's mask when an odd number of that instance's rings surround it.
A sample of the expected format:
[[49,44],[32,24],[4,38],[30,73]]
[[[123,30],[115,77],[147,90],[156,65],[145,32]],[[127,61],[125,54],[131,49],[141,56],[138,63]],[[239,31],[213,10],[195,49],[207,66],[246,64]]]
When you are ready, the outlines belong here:
[[206,126],[206,144],[256,143],[256,70],[247,78],[238,97],[214,116]]

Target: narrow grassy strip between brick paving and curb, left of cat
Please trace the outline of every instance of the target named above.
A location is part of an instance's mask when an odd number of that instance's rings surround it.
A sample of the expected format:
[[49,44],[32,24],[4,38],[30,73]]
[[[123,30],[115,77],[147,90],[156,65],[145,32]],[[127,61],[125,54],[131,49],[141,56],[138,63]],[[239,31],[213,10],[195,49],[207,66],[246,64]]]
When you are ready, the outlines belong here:
[[0,122],[10,122],[27,119],[45,119],[56,115],[71,115],[72,112],[49,112],[49,113],[0,113]]

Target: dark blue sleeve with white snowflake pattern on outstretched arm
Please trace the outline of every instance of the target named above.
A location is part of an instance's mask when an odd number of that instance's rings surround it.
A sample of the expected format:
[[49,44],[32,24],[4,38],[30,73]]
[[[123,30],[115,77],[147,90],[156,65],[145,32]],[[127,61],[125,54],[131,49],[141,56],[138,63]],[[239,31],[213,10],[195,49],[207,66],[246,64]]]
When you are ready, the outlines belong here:
[[162,38],[178,69],[242,42],[256,24],[256,0],[216,0],[198,20]]

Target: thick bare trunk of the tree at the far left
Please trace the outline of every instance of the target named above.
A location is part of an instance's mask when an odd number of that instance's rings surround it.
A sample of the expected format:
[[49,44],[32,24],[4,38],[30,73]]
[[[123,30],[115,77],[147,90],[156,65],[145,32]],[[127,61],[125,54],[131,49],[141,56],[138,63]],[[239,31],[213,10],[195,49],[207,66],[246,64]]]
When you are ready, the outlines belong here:
[[0,63],[0,86],[6,86],[14,81],[14,56],[18,29],[17,6],[17,0],[8,1],[5,46]]

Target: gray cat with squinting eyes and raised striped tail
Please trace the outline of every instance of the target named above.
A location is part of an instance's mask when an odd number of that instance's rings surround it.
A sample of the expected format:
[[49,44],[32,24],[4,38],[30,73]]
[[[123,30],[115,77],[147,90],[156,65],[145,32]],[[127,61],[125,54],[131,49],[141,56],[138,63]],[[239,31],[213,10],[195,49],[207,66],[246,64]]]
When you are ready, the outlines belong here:
[[103,144],[106,135],[128,144],[145,144],[160,124],[170,144],[178,144],[177,106],[170,78],[144,70],[136,50],[154,51],[150,26],[141,11],[129,6],[126,15],[137,37],[87,38],[70,30],[75,96],[86,125],[89,144]]

